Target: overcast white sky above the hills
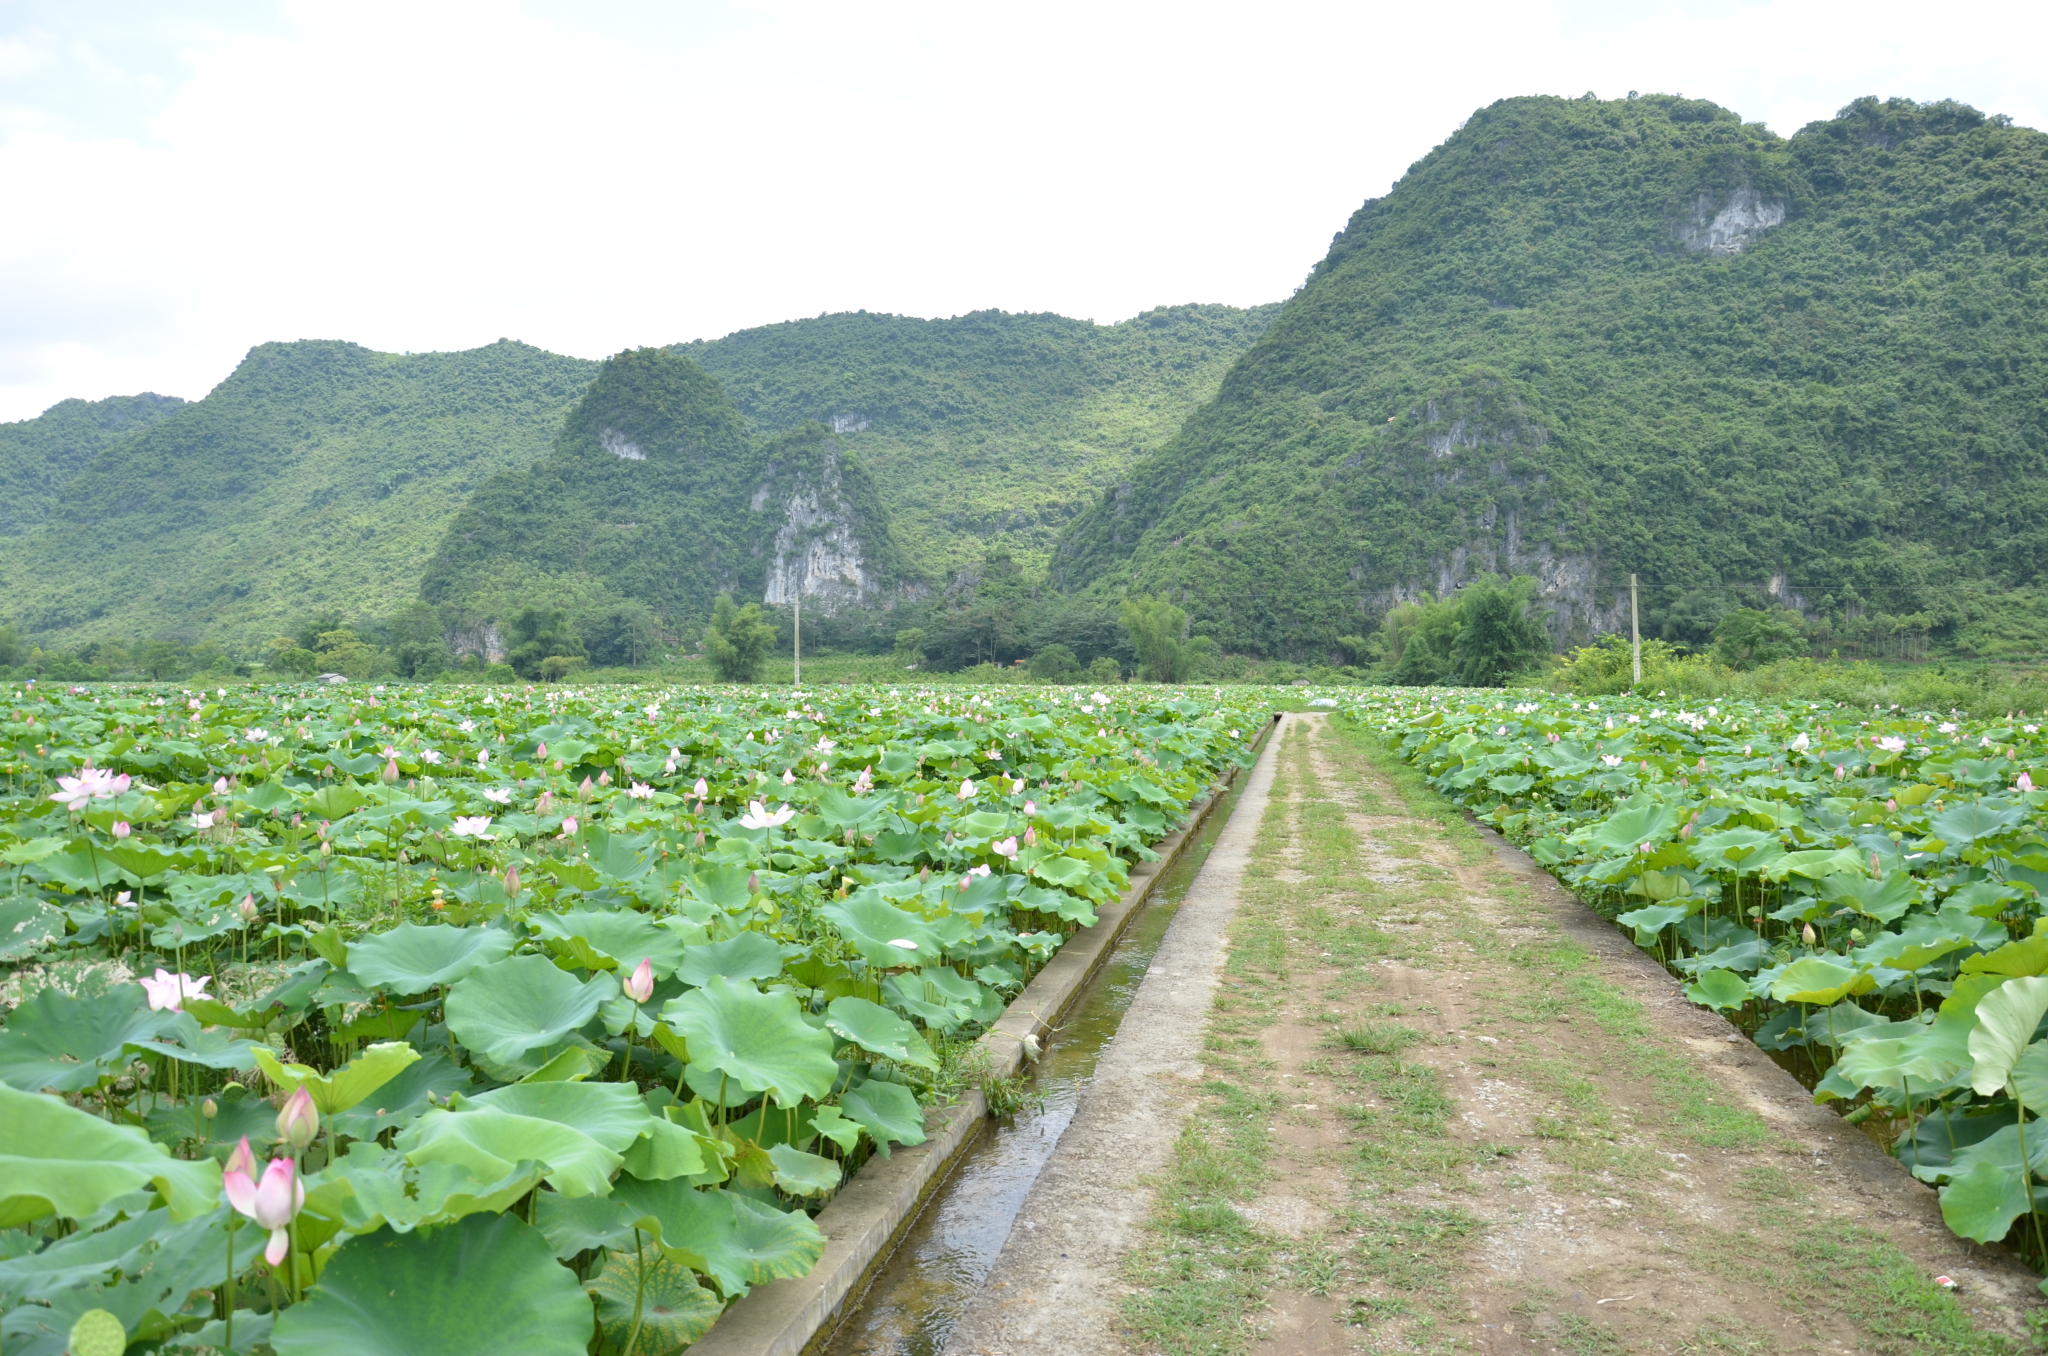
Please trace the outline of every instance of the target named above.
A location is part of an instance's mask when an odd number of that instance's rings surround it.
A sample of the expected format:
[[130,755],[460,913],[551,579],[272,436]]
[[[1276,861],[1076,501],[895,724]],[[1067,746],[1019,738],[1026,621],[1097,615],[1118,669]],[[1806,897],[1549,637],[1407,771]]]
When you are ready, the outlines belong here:
[[1473,109],[2042,127],[2048,6],[0,0],[0,420],[256,342],[1286,297]]

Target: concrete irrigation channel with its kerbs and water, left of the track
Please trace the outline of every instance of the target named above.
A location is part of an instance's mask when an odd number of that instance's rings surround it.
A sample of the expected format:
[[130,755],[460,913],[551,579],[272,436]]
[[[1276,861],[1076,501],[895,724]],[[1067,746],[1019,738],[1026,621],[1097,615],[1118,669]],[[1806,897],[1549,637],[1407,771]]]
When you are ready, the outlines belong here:
[[[973,1313],[989,1266],[1001,1266],[997,1254],[1018,1252],[1006,1245],[1012,1223],[1020,1209],[1026,1219],[1040,1209],[1034,1202],[1047,1184],[1038,1172],[1057,1143],[1071,1143],[1065,1131],[1110,1133],[1118,1141],[1130,1133],[1098,1122],[1094,1110],[1110,1100],[1098,1092],[1104,1075],[1098,1055],[1118,1067],[1122,1041],[1110,1036],[1120,1032],[1124,1008],[1143,1004],[1139,1018],[1128,1022],[1135,1030],[1151,1030],[1155,1022],[1198,1024],[1206,1010],[1231,893],[1214,885],[1214,873],[1243,868],[1264,787],[1272,782],[1272,733],[1282,719],[1260,733],[1251,774],[1223,778],[1186,825],[1155,844],[1159,858],[1130,871],[1124,895],[1098,909],[1098,922],[1075,932],[981,1039],[995,1077],[1024,1067],[1028,1043],[1047,1051],[1032,1067],[1038,1096],[1026,1110],[991,1135],[979,1090],[930,1108],[922,1145],[870,1159],[819,1213],[825,1256],[811,1274],[756,1288],[692,1344],[692,1356],[934,1354],[946,1348],[954,1327]],[[1184,903],[1180,891],[1188,893]],[[1184,930],[1200,930],[1202,938],[1184,942]],[[1190,975],[1180,983],[1167,973],[1169,983],[1155,983],[1161,975],[1147,973],[1178,965],[1206,965],[1208,981]],[[1163,1008],[1153,1012],[1149,995],[1161,995]],[[1198,1041],[1198,1034],[1190,1028],[1186,1039]],[[1157,1051],[1147,1053],[1143,1061],[1157,1057]],[[1192,1059],[1190,1045],[1182,1063],[1192,1067]],[[1171,1133],[1157,1145],[1122,1143],[1118,1157],[1130,1163],[1137,1151],[1163,1155],[1169,1143]],[[1135,1227],[1145,1211],[1141,1174],[1120,1174],[1126,1200],[1114,1211],[1124,1227]],[[1100,1219],[1073,1223],[1092,1231],[1108,1227]],[[995,1282],[1014,1284],[999,1276]]]

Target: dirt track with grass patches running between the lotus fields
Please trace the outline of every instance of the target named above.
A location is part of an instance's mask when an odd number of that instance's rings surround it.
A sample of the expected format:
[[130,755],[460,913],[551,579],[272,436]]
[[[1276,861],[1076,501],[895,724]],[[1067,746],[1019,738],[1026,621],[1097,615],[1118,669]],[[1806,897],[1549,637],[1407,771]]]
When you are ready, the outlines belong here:
[[1284,731],[1204,1045],[1116,1331],[954,1350],[2034,1350],[2034,1276],[1333,723]]

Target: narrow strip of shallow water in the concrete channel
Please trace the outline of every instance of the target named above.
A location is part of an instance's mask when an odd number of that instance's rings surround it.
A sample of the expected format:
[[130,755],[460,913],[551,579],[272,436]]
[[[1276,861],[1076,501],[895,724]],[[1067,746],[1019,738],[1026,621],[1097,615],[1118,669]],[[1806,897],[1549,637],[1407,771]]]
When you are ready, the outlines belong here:
[[1124,928],[1108,963],[1096,971],[1067,1018],[1047,1039],[1034,1065],[1034,1098],[977,1139],[952,1176],[926,1202],[895,1254],[821,1348],[825,1356],[938,1356],[973,1301],[1032,1182],[1096,1073],[1102,1047],[1116,1034],[1145,969],[1165,938],[1182,897],[1208,858],[1237,797],[1239,776],[1202,821],[1188,852],[1159,877]]

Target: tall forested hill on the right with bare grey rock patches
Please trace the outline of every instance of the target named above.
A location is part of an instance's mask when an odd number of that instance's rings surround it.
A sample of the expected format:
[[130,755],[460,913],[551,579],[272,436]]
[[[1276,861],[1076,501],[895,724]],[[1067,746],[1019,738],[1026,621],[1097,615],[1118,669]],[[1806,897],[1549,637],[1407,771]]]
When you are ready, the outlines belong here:
[[[1704,100],[1511,98],[1368,201],[1055,578],[1315,655],[1481,569],[1556,635],[2025,633],[2048,567],[2048,137],[1860,100],[1790,139]],[[2017,590],[2017,592],[2013,592]]]

